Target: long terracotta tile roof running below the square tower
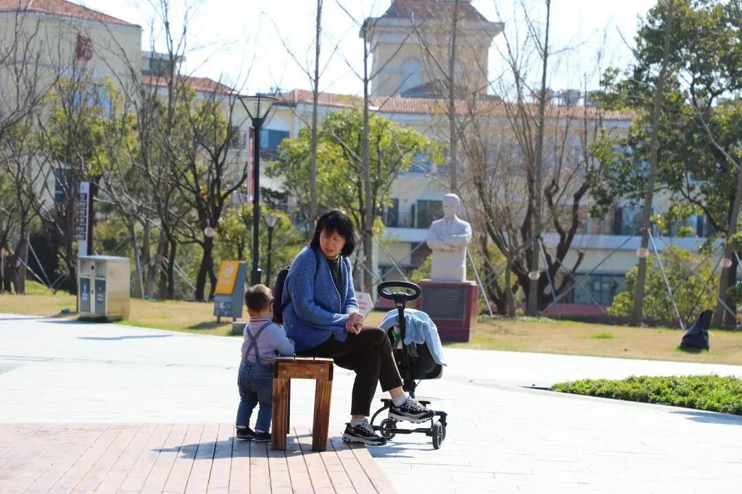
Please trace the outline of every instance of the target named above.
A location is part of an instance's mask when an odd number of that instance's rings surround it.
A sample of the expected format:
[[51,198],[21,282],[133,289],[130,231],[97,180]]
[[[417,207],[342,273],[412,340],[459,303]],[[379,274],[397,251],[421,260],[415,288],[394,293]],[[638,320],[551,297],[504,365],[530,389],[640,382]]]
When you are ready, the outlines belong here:
[[[332,93],[320,93],[319,104],[325,107],[352,108],[360,107],[363,99],[360,96],[347,96]],[[296,104],[312,104],[312,91],[309,90],[292,90],[287,93],[278,95],[276,104],[295,106]],[[370,104],[377,107],[381,113],[418,113],[421,115],[444,114],[446,111],[446,101],[442,99],[427,98],[389,98],[373,96],[370,98]],[[481,100],[477,102],[476,113],[482,116],[507,116],[508,104],[502,101]],[[538,112],[537,104],[526,105],[526,111],[531,115]],[[464,115],[468,113],[467,101],[456,101],[456,113]],[[582,118],[587,116],[588,119],[595,119],[600,116],[603,120],[631,120],[636,116],[632,111],[617,110],[600,110],[597,107],[585,107],[579,104],[561,105],[548,104],[546,107],[546,116],[548,118]]]

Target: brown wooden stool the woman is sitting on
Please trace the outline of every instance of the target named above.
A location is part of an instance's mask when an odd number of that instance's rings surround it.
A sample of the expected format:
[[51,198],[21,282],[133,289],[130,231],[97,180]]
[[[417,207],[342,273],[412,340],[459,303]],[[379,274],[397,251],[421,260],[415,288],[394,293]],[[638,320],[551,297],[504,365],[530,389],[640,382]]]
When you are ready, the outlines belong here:
[[327,448],[329,402],[332,396],[332,358],[278,357],[273,362],[273,433],[271,449],[286,449],[291,407],[291,380],[314,379],[315,415],[312,451]]

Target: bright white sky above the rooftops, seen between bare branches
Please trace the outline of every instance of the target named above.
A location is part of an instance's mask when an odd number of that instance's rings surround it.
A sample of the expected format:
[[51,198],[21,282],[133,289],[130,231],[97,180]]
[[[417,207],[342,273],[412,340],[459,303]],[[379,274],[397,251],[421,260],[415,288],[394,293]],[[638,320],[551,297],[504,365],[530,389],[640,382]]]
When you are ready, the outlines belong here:
[[[161,29],[150,28],[157,0],[73,0],[108,15],[142,26],[142,48],[164,50]],[[356,75],[363,60],[358,22],[379,16],[392,0],[324,0],[320,90],[359,94]],[[543,0],[523,0],[543,22]],[[490,21],[505,23],[510,39],[524,36],[519,0],[472,0]],[[550,44],[557,55],[550,62],[548,85],[554,90],[597,89],[599,74],[608,66],[626,67],[631,60],[640,16],[656,3],[651,0],[552,0]],[[183,26],[184,4],[171,0],[171,25]],[[306,67],[314,57],[315,0],[201,0],[188,12],[186,59],[183,72],[221,79],[243,93],[279,87],[310,89]],[[157,24],[155,24],[157,26]],[[180,29],[179,29],[180,30]],[[154,35],[154,36],[153,36]],[[504,70],[505,37],[490,49],[490,79]],[[290,54],[292,53],[293,56]],[[600,61],[599,61],[600,60]],[[534,70],[535,74],[535,70]]]

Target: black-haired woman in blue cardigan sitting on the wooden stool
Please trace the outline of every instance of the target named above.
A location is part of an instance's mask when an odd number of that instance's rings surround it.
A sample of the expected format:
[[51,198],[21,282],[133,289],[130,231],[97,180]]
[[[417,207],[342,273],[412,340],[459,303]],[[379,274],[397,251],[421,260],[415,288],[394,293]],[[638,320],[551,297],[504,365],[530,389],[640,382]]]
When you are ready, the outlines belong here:
[[320,216],[309,247],[291,263],[283,289],[283,303],[289,301],[283,324],[298,355],[332,358],[355,372],[351,420],[343,440],[383,445],[387,441],[367,420],[377,382],[392,397],[390,418],[424,422],[434,413],[402,390],[387,333],[363,325],[348,259],[355,242],[355,229],[344,211],[329,210]]

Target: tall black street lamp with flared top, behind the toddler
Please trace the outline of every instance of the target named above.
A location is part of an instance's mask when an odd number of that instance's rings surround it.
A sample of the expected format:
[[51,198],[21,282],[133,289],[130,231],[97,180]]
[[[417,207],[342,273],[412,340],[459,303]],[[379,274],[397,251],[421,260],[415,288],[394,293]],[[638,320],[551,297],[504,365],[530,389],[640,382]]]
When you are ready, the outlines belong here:
[[257,236],[260,231],[258,222],[260,221],[260,129],[263,127],[263,120],[266,119],[268,112],[276,100],[272,96],[238,96],[240,103],[245,107],[247,115],[252,119],[252,128],[255,137],[253,138],[253,168],[252,168],[252,273],[250,273],[250,283],[260,283],[260,267],[257,265]]

